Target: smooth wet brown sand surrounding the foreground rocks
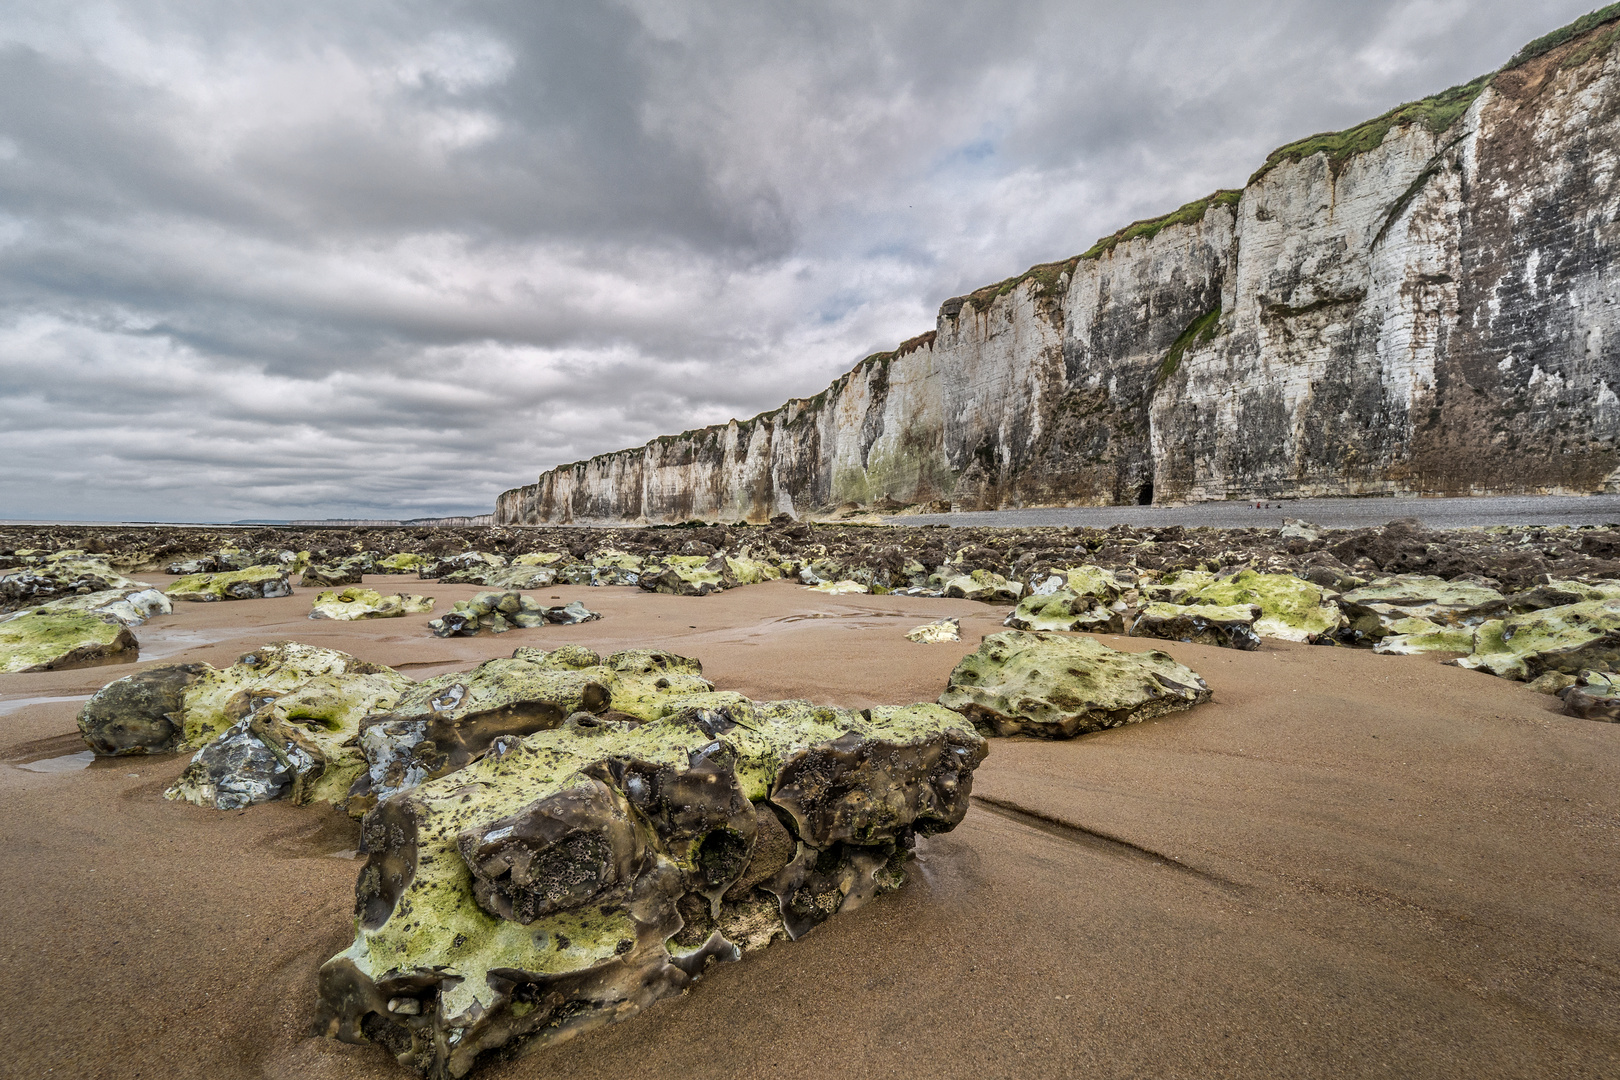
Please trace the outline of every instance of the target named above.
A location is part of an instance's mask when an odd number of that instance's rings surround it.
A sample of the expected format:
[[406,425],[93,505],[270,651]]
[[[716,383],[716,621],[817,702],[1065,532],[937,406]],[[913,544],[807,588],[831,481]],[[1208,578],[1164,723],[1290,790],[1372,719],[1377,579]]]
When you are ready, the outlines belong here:
[[[478,591],[368,585],[439,610]],[[415,678],[520,644],[659,646],[726,690],[860,708],[933,699],[1006,614],[789,583],[535,596],[604,619],[437,640],[428,615],[311,622],[298,589],[136,633],[143,664],[296,638]],[[959,644],[904,640],[943,615]],[[995,740],[899,894],[478,1075],[1620,1075],[1620,725],[1430,657],[1165,648],[1213,703]],[[183,755],[19,767],[81,751],[73,698],[133,670],[0,677],[0,1077],[408,1075],[309,1036],[316,967],[352,939],[347,818],[168,803]]]

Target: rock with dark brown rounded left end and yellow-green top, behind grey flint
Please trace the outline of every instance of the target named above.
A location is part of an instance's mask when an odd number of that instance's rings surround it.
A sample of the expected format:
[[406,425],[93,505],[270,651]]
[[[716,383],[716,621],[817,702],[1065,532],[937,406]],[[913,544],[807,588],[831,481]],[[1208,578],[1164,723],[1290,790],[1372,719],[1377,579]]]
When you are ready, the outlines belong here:
[[337,649],[277,641],[225,669],[167,664],[102,687],[79,711],[79,732],[96,753],[196,750],[313,678],[373,674],[395,672]]

